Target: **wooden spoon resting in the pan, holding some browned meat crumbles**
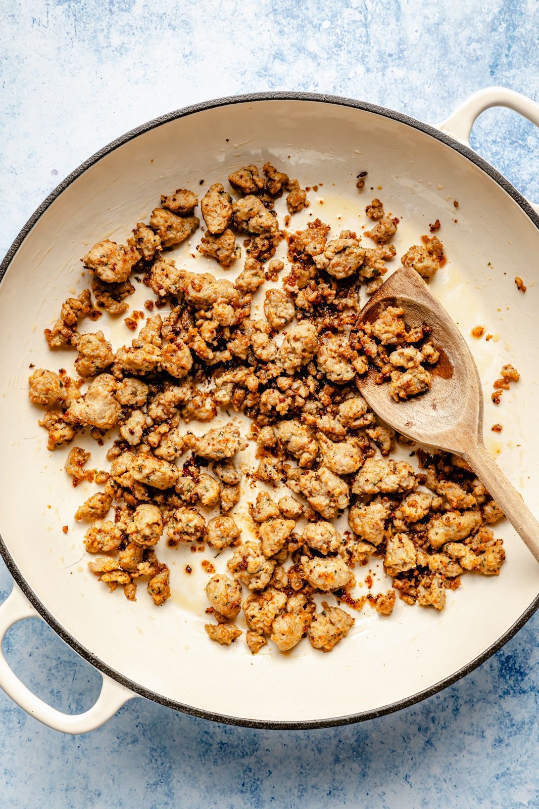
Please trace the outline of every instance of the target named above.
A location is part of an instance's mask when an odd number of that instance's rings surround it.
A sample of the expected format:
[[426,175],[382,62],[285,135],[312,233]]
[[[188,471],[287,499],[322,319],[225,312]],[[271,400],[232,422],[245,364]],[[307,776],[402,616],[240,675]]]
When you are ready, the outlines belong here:
[[415,269],[401,267],[382,284],[360,311],[358,327],[377,320],[388,306],[402,307],[411,328],[432,327],[432,342],[440,351],[431,369],[432,388],[396,402],[388,385],[375,382],[377,368],[371,367],[366,375],[356,377],[360,392],[394,430],[464,458],[539,561],[539,523],[483,444],[481,381],[464,337]]

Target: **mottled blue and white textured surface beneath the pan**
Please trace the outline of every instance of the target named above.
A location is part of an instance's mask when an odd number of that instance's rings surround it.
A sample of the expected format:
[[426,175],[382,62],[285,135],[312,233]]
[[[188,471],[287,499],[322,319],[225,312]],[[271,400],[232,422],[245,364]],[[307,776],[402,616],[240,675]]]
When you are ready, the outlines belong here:
[[[539,5],[423,0],[3,0],[0,253],[59,180],[149,118],[219,95],[331,92],[442,121],[502,84],[537,100]],[[473,145],[539,201],[537,130],[486,112]],[[11,578],[0,562],[0,600]],[[539,616],[465,680],[335,730],[253,731],[140,699],[80,737],[0,693],[0,807],[537,807]],[[4,651],[52,705],[98,674],[40,621]]]

